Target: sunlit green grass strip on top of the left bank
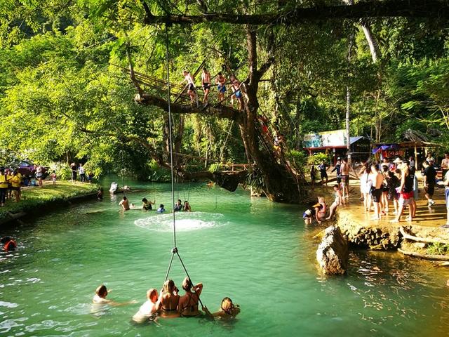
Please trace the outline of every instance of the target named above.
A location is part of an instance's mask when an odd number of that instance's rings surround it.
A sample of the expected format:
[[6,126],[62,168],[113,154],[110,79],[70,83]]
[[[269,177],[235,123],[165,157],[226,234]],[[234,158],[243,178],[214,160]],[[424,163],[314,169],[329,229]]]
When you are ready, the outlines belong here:
[[60,180],[56,185],[44,184],[43,187],[25,187],[22,189],[20,202],[6,200],[6,205],[0,208],[0,220],[6,218],[7,213],[27,212],[36,207],[48,205],[55,201],[78,197],[80,195],[96,192],[98,185],[76,183]]

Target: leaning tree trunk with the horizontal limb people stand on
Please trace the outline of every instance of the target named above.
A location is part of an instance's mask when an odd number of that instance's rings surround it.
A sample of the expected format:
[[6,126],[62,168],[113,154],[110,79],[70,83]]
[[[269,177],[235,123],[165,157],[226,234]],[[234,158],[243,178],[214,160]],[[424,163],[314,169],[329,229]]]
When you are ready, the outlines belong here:
[[[267,197],[272,201],[297,203],[304,194],[304,190],[299,185],[301,180],[283,157],[283,151],[274,152],[273,145],[267,143],[257,122],[257,111],[259,109],[257,91],[260,79],[274,62],[272,51],[274,44],[270,46],[267,60],[260,67],[257,67],[257,36],[253,27],[247,27],[246,38],[250,72],[248,78],[243,81],[248,96],[248,103],[244,104],[243,111],[237,111],[232,107],[222,105],[208,106],[202,110],[196,107],[172,104],[171,112],[173,114],[209,114],[235,121],[239,124],[241,139],[245,147],[248,164],[252,167],[252,174],[262,178],[264,185],[262,190]],[[135,77],[132,76],[131,79],[136,82]],[[140,88],[138,83],[135,83],[135,86]],[[168,102],[154,95],[139,93],[135,100],[142,105],[154,105],[165,111],[168,110]],[[149,152],[157,158],[159,164],[166,165],[166,163],[161,162],[161,158],[153,149],[150,149]],[[189,173],[182,171],[180,167],[175,167],[175,170],[177,170],[177,176],[180,178],[192,177]],[[200,173],[198,176],[200,176]],[[237,183],[244,182],[246,173],[214,173],[212,175],[204,172],[201,173],[201,176],[215,180],[217,184],[228,190],[235,190]]]

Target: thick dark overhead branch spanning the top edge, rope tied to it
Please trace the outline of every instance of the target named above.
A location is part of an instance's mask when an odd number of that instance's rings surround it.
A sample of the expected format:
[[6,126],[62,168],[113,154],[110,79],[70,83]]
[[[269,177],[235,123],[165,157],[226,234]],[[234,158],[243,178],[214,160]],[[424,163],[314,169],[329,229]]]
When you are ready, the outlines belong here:
[[285,13],[260,15],[218,14],[207,15],[147,15],[145,23],[192,24],[201,22],[225,22],[234,25],[300,25],[308,21],[330,19],[360,19],[380,17],[449,18],[447,0],[386,0],[360,2],[350,6],[317,6],[296,8]]

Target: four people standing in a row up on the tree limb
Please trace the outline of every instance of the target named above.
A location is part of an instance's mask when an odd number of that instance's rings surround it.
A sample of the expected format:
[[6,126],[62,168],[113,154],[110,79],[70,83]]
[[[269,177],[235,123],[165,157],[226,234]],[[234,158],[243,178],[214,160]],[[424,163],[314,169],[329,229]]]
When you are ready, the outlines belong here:
[[[196,96],[196,86],[195,86],[195,80],[192,74],[188,72],[187,70],[184,70],[182,72],[184,76],[184,80],[182,83],[187,83],[187,94],[190,97],[190,100],[192,101],[192,105],[197,105],[197,96]],[[223,76],[222,72],[218,72],[217,77],[215,77],[215,84],[217,85],[217,91],[218,91],[218,100],[220,103],[222,103],[225,98],[225,93],[227,91],[226,84],[227,79],[225,76]],[[231,95],[231,105],[234,105],[234,99],[237,100],[237,103],[239,103],[239,110],[243,110],[243,93],[241,91],[241,83],[236,79],[234,75],[231,75],[229,79],[229,83],[231,84],[232,89],[232,95]],[[210,84],[211,84],[211,76],[210,72],[208,72],[206,67],[203,67],[203,71],[201,72],[201,87],[204,91],[204,100],[203,105],[208,105],[209,100],[209,91],[210,91]]]

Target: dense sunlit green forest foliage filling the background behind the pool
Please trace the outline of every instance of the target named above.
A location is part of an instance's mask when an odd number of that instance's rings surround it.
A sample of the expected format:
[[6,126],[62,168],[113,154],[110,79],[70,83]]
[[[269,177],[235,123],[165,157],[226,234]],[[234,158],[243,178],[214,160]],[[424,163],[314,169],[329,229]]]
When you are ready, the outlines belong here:
[[[147,4],[154,15],[167,10],[200,13],[195,1]],[[229,1],[207,4],[211,13],[243,13],[241,6]],[[263,14],[287,12],[298,3],[243,5],[248,13]],[[127,67],[129,55],[135,70],[166,77],[165,32],[143,23],[142,2],[4,0],[1,11],[0,113],[5,118],[0,124],[0,164],[24,158],[44,164],[81,161],[96,177],[113,172],[168,180],[168,171],[151,159],[168,163],[166,114],[135,105],[135,88],[113,66]],[[270,131],[279,130],[288,149],[294,149],[286,153],[288,160],[296,166],[305,163],[299,151],[304,133],[344,127],[347,88],[352,135],[397,141],[411,128],[449,145],[449,30],[437,21],[367,21],[382,54],[377,63],[371,59],[363,30],[352,21],[257,29],[259,65],[267,60],[270,47],[276,47],[274,65],[264,74],[266,81],[260,82],[259,103]],[[355,44],[349,64],[351,32]],[[182,70],[194,72],[203,60],[213,75],[226,65],[245,80],[249,72],[245,34],[245,27],[220,22],[170,27],[173,83],[182,80]],[[165,95],[154,83],[143,87]],[[174,131],[182,130],[177,150],[190,156],[178,159],[187,171],[203,169],[207,162],[206,169],[213,172],[219,169],[210,165],[215,160],[246,162],[236,123],[202,115],[176,116],[173,121]],[[329,156],[316,154],[307,162],[323,160]],[[57,171],[58,176],[67,176],[67,166],[58,166]],[[262,186],[257,173],[248,181]]]

